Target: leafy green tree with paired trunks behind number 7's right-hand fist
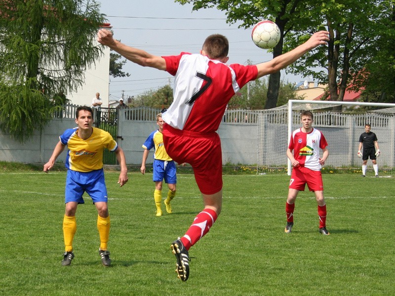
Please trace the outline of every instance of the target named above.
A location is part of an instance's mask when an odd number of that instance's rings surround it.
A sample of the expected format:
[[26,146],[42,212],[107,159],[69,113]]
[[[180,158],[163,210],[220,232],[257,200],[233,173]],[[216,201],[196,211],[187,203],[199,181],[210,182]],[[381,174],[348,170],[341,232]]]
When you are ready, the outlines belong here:
[[[300,44],[323,24],[330,33],[328,46],[317,47],[292,64],[293,73],[313,76],[328,83],[332,101],[343,101],[350,84],[360,75],[367,77],[366,66],[377,54],[379,24],[385,21],[381,13],[382,0],[309,1],[306,14],[312,16],[307,30],[294,32],[286,47]],[[379,33],[379,34],[378,34]],[[317,69],[321,69],[318,70]],[[322,70],[323,69],[323,70]],[[384,70],[384,69],[382,69]],[[365,80],[366,81],[366,80]],[[362,84],[358,85],[359,88]]]

